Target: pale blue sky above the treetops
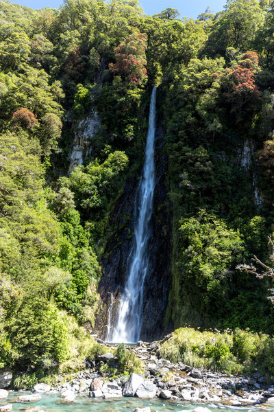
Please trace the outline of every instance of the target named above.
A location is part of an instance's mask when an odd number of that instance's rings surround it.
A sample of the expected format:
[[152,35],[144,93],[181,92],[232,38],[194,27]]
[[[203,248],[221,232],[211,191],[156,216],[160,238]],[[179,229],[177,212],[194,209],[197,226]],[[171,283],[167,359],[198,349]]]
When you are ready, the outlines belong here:
[[[1,0],[0,0],[1,1]],[[27,7],[40,9],[43,7],[59,8],[62,0],[10,0],[12,3],[27,5]],[[196,19],[209,5],[213,12],[223,10],[225,0],[139,0],[146,14],[152,16],[166,8],[177,9],[182,17]]]

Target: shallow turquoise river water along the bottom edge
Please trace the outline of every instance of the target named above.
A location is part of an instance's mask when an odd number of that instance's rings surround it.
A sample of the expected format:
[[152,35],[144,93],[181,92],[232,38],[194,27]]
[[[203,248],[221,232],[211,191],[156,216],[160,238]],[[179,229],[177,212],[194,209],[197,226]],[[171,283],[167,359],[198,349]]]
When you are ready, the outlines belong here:
[[150,407],[151,411],[190,411],[195,407],[208,407],[212,412],[256,412],[269,410],[273,412],[273,408],[263,406],[259,407],[226,407],[222,404],[193,404],[190,402],[169,402],[159,399],[153,400],[140,400],[138,398],[121,398],[119,400],[97,400],[94,398],[88,398],[88,396],[77,396],[76,402],[67,404],[62,401],[62,398],[58,394],[47,395],[41,394],[42,400],[39,402],[17,402],[15,403],[16,396],[26,395],[30,392],[13,392],[10,393],[5,401],[0,401],[0,405],[13,403],[13,412],[25,411],[29,407],[40,407],[45,412],[134,412],[136,407],[145,408]]

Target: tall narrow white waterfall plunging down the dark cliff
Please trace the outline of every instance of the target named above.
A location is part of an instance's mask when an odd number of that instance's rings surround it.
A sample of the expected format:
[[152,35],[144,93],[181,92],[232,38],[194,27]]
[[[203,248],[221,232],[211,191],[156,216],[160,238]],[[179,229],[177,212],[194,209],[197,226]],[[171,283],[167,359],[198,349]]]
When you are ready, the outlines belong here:
[[136,222],[134,242],[127,262],[127,280],[120,299],[118,317],[107,340],[135,343],[140,339],[142,327],[142,299],[145,277],[149,266],[149,221],[153,210],[155,187],[154,139],[156,116],[156,88],[153,88],[149,108],[149,130],[145,148],[145,163],[136,193]]

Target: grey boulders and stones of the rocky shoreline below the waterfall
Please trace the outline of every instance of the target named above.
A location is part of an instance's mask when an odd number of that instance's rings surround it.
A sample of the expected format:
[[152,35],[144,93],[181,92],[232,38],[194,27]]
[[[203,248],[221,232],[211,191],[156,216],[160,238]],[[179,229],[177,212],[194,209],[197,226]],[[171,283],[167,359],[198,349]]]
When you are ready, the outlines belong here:
[[[116,347],[103,343],[111,349]],[[127,346],[145,364],[144,376],[131,374],[129,377],[108,380],[99,370],[111,361],[111,352],[98,356],[96,361],[85,371],[73,374],[71,382],[57,387],[44,383],[35,385],[33,395],[21,396],[16,402],[35,402],[40,399],[39,393],[60,393],[64,402],[75,402],[77,395],[92,398],[122,398],[136,396],[142,399],[161,398],[162,400],[188,401],[226,404],[232,407],[247,407],[266,402],[274,405],[274,386],[266,385],[263,376],[253,374],[232,376],[204,369],[196,369],[183,363],[171,363],[158,356],[159,343],[139,342],[134,347]],[[60,376],[60,381],[62,376]],[[4,382],[4,383],[3,383]],[[8,389],[9,381],[0,374],[0,386]],[[9,391],[0,389],[0,399],[8,397]],[[1,398],[2,397],[2,398]],[[23,399],[24,398],[24,399]],[[0,407],[0,412],[11,411],[10,404]],[[199,411],[198,411],[199,412]]]

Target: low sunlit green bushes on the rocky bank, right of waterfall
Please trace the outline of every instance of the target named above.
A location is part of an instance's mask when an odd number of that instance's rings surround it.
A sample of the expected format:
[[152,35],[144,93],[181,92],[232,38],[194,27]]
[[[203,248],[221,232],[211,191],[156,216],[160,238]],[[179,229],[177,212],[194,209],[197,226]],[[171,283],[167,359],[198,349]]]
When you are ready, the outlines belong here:
[[269,335],[247,330],[175,330],[160,346],[160,356],[192,367],[208,368],[228,374],[264,374],[273,377],[274,341]]

